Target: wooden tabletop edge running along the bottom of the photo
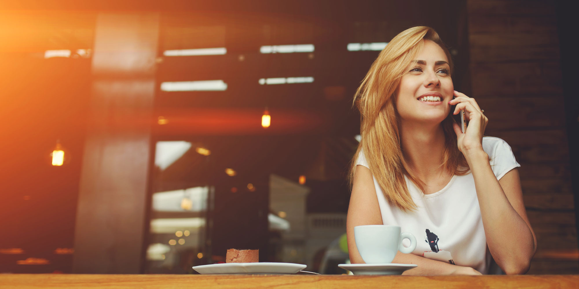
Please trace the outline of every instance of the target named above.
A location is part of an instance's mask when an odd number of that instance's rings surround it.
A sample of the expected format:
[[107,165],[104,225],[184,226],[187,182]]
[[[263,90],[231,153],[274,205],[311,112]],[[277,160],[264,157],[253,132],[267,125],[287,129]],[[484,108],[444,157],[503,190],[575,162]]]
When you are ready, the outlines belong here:
[[0,288],[579,288],[579,275],[0,274]]

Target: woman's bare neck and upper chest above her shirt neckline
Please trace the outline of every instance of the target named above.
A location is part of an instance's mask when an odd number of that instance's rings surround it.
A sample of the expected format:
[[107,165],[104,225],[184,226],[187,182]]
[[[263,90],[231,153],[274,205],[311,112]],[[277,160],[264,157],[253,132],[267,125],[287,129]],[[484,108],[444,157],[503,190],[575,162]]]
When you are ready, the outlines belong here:
[[399,129],[404,158],[420,180],[448,175],[444,168],[438,168],[444,161],[445,135],[441,124],[403,122]]

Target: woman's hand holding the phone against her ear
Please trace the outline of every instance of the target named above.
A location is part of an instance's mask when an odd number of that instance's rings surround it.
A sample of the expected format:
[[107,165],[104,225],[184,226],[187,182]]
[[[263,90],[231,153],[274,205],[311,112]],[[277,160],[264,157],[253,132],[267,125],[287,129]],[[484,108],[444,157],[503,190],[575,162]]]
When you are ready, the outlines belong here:
[[467,97],[456,90],[454,95],[456,98],[448,102],[450,105],[456,104],[453,114],[464,110],[466,112],[466,120],[468,120],[468,128],[465,134],[463,134],[460,125],[456,121],[452,124],[455,129],[459,150],[463,154],[467,154],[470,151],[482,151],[482,136],[485,133],[489,119],[481,112],[481,108],[479,108],[474,98]]

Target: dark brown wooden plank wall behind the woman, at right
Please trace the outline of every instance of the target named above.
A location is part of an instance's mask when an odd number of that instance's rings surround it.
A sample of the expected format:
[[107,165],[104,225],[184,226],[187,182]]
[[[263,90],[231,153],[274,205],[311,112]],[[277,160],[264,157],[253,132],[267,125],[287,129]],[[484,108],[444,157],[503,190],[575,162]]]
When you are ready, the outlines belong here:
[[[486,135],[510,144],[537,255],[529,273],[579,273],[554,3],[467,1],[472,92]],[[555,253],[554,253],[555,252]]]

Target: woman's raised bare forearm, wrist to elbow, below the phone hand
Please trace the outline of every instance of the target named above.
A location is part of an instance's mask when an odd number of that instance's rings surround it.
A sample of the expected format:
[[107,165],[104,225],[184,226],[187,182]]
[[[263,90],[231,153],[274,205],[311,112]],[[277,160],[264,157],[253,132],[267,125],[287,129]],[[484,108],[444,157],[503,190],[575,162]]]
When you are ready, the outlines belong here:
[[529,225],[508,201],[484,151],[465,154],[474,177],[486,242],[494,260],[507,274],[529,269],[535,251]]

